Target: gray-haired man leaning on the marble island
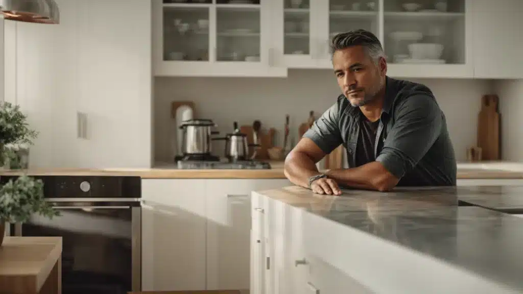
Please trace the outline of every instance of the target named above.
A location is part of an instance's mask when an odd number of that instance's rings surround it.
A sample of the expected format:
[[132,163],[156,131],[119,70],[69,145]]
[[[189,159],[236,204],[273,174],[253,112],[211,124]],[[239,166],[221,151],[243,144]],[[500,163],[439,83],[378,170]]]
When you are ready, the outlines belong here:
[[[369,31],[340,33],[331,52],[343,94],[289,153],[287,178],[329,195],[341,194],[339,186],[389,191],[456,185],[445,115],[430,89],[388,77],[381,43]],[[320,173],[315,163],[340,144],[349,168]]]

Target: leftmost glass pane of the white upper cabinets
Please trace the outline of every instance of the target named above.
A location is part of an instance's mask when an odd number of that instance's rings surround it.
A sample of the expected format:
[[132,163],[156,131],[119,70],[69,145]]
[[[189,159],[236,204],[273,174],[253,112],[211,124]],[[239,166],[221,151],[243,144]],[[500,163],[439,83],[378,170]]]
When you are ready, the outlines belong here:
[[209,61],[209,7],[164,6],[163,13],[164,60]]

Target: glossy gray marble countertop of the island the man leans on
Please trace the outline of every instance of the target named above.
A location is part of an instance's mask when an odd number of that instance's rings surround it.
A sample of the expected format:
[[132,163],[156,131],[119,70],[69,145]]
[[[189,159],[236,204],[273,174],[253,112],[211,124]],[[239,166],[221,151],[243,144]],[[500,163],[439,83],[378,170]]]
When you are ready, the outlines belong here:
[[259,194],[523,292],[523,219],[458,206],[458,199],[492,207],[523,203],[523,195],[516,199],[520,189],[423,187],[389,193],[343,190],[341,196],[328,196],[286,187]]

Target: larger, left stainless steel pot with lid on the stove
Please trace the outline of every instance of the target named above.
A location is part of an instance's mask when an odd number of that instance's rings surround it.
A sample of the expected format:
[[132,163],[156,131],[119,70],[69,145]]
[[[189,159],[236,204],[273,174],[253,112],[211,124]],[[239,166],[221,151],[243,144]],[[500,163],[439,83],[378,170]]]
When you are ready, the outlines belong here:
[[180,129],[183,130],[183,144],[181,153],[184,155],[206,155],[211,154],[211,141],[213,134],[218,134],[218,131],[213,131],[216,127],[215,123],[210,119],[190,119],[185,120]]

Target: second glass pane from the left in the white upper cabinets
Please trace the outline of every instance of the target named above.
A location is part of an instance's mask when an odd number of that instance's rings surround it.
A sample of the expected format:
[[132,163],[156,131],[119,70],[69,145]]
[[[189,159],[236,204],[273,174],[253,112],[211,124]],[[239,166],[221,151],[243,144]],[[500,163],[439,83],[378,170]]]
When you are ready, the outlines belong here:
[[259,0],[218,0],[217,61],[260,61]]

